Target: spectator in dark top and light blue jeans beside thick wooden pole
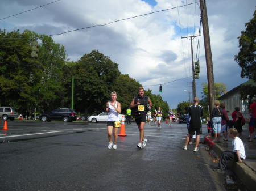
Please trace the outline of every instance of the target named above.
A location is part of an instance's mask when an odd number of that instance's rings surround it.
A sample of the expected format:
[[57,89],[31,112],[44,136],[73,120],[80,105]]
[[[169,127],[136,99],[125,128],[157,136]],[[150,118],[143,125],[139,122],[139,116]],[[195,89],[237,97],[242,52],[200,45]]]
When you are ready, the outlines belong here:
[[221,133],[221,116],[222,109],[220,107],[220,101],[214,101],[215,107],[212,109],[212,122],[213,122],[213,133],[214,140],[213,142],[220,141],[220,133]]

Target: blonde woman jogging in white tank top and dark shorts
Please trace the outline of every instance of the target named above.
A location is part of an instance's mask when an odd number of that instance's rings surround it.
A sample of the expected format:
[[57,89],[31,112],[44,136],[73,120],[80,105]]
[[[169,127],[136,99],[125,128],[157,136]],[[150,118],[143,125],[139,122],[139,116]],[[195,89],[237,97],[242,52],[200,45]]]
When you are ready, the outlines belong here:
[[[121,104],[117,101],[117,92],[110,93],[111,101],[106,103],[106,112],[109,112],[107,121],[109,145],[108,149],[117,149],[117,134],[118,128],[121,126],[118,113],[121,113]],[[112,141],[112,133],[114,129],[114,143]]]

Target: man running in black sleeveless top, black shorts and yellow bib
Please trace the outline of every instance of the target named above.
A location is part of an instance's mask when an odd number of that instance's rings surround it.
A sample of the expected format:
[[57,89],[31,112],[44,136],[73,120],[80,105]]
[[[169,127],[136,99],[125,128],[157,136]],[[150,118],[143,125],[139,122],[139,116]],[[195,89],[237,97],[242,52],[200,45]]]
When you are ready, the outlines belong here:
[[[148,105],[148,106],[147,106]],[[135,122],[139,128],[139,143],[137,148],[146,146],[147,139],[144,138],[144,126],[146,123],[147,111],[152,107],[152,102],[149,97],[144,96],[144,88],[138,89],[138,96],[131,101],[130,108],[134,109]]]

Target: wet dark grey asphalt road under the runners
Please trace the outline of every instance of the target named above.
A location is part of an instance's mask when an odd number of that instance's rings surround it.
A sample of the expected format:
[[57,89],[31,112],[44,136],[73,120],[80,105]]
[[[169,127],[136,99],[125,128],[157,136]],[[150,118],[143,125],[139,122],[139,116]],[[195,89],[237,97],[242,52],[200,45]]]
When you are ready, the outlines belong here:
[[[2,125],[3,123],[0,122]],[[0,131],[0,190],[225,190],[204,145],[182,150],[185,124],[126,125],[108,150],[106,124],[8,121]],[[206,128],[204,128],[204,131]]]

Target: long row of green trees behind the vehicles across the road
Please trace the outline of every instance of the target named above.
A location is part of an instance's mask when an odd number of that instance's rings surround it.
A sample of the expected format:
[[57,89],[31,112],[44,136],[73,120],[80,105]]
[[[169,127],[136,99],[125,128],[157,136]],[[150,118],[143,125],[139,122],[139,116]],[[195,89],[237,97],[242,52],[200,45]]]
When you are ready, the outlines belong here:
[[[39,46],[38,57],[31,57],[32,41]],[[125,113],[141,84],[121,74],[118,64],[92,50],[77,62],[68,62],[65,48],[51,37],[35,32],[0,31],[0,105],[44,112],[71,107],[72,77],[75,77],[74,105],[77,113],[100,113],[116,91]],[[153,108],[161,107],[167,116],[168,104],[160,95],[146,91]]]

